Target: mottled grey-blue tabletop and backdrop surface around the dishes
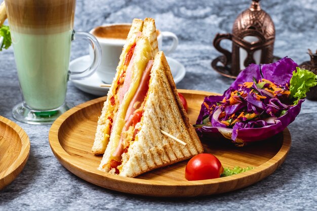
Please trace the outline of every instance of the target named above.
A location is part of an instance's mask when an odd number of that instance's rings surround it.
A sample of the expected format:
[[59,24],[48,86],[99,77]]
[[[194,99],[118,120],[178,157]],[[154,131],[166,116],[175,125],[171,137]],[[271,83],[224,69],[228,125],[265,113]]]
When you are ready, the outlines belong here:
[[[75,29],[89,31],[104,23],[130,22],[153,17],[157,28],[179,37],[179,47],[170,56],[184,64],[185,78],[179,89],[221,93],[231,79],[210,66],[219,55],[212,40],[217,32],[230,32],[247,0],[195,1],[105,1],[77,0]],[[261,1],[276,27],[274,55],[296,62],[308,60],[307,49],[317,49],[317,2],[315,0]],[[225,43],[230,49],[230,43]],[[72,46],[71,59],[88,54],[80,41]],[[21,101],[13,49],[0,52],[0,115],[11,114]],[[80,104],[96,98],[68,85],[67,100]],[[0,191],[0,210],[315,210],[317,207],[317,102],[306,100],[301,113],[289,125],[292,146],[285,162],[266,179],[241,190],[198,197],[166,199],[123,194],[92,185],[68,172],[54,157],[49,143],[49,125],[17,122],[28,134],[31,151],[16,180]]]

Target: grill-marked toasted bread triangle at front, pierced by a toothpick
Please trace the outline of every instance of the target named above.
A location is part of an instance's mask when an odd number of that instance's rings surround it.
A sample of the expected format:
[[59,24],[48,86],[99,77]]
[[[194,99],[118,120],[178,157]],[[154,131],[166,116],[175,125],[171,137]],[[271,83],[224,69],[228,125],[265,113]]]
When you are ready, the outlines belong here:
[[[121,176],[136,177],[154,168],[188,159],[204,151],[179,99],[163,52],[155,56],[144,113],[139,123],[140,130],[128,151],[123,153],[122,164],[117,167]],[[186,146],[163,135],[161,129],[184,141]],[[111,139],[109,145],[112,145]],[[104,164],[109,161],[109,159],[103,160],[99,169],[109,171],[104,168]]]

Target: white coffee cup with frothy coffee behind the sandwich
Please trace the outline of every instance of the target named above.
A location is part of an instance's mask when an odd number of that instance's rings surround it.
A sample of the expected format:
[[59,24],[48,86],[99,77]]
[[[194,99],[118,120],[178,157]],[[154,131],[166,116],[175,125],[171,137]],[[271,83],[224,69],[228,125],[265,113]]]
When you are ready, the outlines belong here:
[[[98,26],[90,31],[97,38],[101,46],[101,64],[96,72],[105,83],[112,82],[130,27],[130,23],[115,23]],[[160,30],[157,30],[156,33],[159,50],[162,50],[163,38],[165,37],[172,38],[173,43],[164,53],[168,55],[176,50],[178,38],[174,33]],[[93,58],[92,48],[90,49],[90,56]]]

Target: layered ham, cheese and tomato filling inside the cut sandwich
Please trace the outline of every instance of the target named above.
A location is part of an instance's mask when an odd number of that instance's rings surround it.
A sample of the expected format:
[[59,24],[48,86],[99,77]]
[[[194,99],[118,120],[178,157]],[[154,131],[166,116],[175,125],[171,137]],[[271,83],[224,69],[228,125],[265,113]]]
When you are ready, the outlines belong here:
[[[136,59],[136,47],[137,43],[134,43],[127,53],[124,62],[126,70],[121,73],[116,82],[117,87],[115,95],[110,97],[110,104],[114,107],[112,116],[109,116],[109,123],[111,123],[111,126],[112,122],[115,121],[115,118],[118,118],[117,123],[119,126],[116,125],[116,131],[114,132],[114,136],[117,137],[117,141],[115,141],[117,142],[117,145],[112,151],[109,159],[110,161],[105,163],[102,167],[107,168],[110,172],[116,174],[120,173],[123,153],[128,152],[129,146],[135,140],[135,137],[141,128],[140,121],[143,115],[143,108],[150,80],[150,72],[153,65],[151,53],[149,56],[151,46],[148,43],[148,40],[146,45],[143,44],[143,49],[141,50],[142,53],[146,53],[146,57],[141,55],[138,59]],[[135,90],[133,95],[131,95],[131,90]],[[123,116],[118,114],[120,112],[116,112],[120,105],[123,107],[121,108],[124,113]],[[113,113],[115,114],[113,115]],[[122,121],[123,119],[124,121]],[[112,133],[112,128],[110,133]]]

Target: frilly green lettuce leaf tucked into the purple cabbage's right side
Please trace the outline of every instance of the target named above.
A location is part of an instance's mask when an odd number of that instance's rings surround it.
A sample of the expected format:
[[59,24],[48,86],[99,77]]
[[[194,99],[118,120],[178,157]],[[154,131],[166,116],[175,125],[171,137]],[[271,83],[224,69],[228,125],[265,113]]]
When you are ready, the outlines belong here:
[[313,72],[296,67],[290,81],[290,97],[295,98],[294,105],[298,104],[300,99],[306,97],[306,93],[311,87],[317,85],[317,75]]

